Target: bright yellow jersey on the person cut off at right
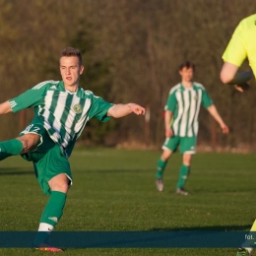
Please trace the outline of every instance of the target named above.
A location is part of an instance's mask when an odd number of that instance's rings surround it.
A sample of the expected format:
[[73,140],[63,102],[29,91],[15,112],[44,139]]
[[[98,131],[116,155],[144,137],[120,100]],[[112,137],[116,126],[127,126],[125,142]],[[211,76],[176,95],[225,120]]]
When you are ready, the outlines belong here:
[[248,58],[256,77],[256,14],[243,19],[228,42],[223,59],[238,67]]

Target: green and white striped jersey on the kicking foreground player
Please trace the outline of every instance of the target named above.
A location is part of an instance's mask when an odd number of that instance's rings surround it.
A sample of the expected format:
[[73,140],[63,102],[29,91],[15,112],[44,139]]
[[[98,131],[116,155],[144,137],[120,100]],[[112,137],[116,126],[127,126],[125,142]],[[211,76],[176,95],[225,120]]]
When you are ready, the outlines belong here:
[[63,150],[74,147],[86,123],[96,118],[110,119],[107,110],[113,105],[82,88],[75,93],[65,90],[63,81],[42,82],[24,94],[9,100],[13,112],[34,107],[50,138]]

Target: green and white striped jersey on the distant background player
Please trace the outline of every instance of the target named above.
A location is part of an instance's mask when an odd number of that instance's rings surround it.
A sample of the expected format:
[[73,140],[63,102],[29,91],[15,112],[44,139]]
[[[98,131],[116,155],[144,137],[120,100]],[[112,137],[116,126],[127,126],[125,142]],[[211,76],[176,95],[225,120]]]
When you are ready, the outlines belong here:
[[173,121],[170,125],[174,135],[197,136],[201,103],[207,108],[213,104],[213,100],[199,83],[194,82],[190,89],[179,83],[170,90],[164,109],[173,112]]

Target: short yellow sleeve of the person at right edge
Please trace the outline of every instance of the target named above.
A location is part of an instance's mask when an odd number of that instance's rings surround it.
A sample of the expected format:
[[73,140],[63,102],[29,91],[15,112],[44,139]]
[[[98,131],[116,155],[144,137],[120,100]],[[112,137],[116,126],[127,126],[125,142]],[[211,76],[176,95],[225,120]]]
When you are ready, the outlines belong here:
[[240,67],[247,57],[245,35],[243,31],[243,22],[240,22],[234,30],[223,55],[224,62],[231,63],[237,67]]

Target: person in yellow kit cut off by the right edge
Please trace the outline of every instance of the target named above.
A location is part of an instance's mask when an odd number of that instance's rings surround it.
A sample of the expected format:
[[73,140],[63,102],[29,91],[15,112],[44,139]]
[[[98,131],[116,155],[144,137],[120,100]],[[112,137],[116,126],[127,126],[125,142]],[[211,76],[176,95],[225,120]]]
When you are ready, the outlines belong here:
[[[248,59],[252,70],[238,72],[245,59]],[[226,85],[234,85],[236,90],[244,92],[249,89],[247,82],[256,77],[256,14],[240,21],[224,50],[224,65],[221,80]],[[251,227],[256,231],[256,221]],[[238,249],[237,256],[250,255],[251,247]]]

